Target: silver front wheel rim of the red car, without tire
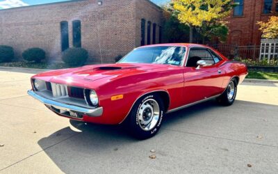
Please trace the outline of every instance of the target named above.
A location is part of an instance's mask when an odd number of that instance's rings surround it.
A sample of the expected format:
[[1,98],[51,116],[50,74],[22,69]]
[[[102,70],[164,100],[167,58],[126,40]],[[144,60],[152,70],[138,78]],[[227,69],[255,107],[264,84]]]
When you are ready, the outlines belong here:
[[137,113],[140,127],[145,131],[153,129],[158,122],[159,112],[160,109],[156,100],[149,99],[143,102]]

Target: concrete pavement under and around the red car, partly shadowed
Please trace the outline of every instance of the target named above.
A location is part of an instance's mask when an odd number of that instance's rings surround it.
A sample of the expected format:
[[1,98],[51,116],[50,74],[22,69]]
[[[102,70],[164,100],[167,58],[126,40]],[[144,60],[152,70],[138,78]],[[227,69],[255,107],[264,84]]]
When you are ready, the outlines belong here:
[[278,173],[277,84],[243,83],[234,105],[170,113],[138,141],[56,116],[26,94],[37,72],[0,68],[0,173]]

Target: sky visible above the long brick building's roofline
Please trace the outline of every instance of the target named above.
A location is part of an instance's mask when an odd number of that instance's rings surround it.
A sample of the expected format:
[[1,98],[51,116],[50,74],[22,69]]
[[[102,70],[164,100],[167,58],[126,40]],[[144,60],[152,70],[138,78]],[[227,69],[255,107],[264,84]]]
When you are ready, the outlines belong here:
[[[42,4],[42,3],[51,3],[51,2],[58,2],[58,1],[68,1],[68,0],[0,0],[0,9],[5,8],[14,8],[20,6],[31,6],[35,4]],[[170,0],[151,0],[154,3],[160,5],[161,3],[165,3]]]

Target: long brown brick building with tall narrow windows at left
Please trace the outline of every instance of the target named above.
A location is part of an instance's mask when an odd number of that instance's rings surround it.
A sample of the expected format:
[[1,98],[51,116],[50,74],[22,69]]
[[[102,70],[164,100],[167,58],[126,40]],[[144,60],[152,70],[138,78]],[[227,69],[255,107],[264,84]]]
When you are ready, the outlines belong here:
[[149,0],[78,0],[0,10],[0,45],[17,57],[30,47],[60,61],[83,47],[92,62],[113,62],[134,47],[161,42],[162,10]]

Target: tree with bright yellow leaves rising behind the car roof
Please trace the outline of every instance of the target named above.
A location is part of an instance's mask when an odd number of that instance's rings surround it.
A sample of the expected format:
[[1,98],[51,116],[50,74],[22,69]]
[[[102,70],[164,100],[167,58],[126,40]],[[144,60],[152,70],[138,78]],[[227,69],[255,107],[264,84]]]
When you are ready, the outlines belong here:
[[[228,34],[224,18],[229,16],[236,3],[232,0],[172,0],[181,23],[190,26],[190,42],[193,41],[193,28],[204,38],[225,39]],[[218,37],[218,34],[221,37]]]

